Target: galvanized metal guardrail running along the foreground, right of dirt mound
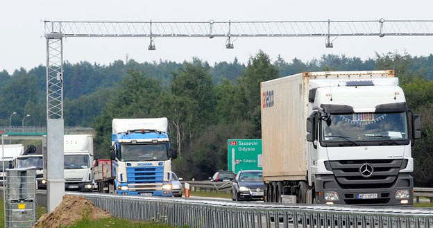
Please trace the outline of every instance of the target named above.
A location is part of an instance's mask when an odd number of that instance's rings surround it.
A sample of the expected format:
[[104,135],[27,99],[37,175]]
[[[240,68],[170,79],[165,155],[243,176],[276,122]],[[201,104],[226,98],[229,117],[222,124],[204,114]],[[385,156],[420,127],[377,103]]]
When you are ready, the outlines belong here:
[[[157,198],[101,193],[80,195],[117,218],[168,223],[175,227],[430,228],[433,210],[413,207],[350,207]],[[46,202],[37,192],[40,205]]]

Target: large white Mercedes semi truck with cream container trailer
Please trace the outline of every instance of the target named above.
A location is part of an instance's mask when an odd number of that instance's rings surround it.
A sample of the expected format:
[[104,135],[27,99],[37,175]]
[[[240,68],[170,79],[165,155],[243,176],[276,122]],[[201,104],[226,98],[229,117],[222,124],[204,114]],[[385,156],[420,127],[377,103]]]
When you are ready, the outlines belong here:
[[298,73],[261,96],[266,202],[413,204],[421,121],[392,70]]

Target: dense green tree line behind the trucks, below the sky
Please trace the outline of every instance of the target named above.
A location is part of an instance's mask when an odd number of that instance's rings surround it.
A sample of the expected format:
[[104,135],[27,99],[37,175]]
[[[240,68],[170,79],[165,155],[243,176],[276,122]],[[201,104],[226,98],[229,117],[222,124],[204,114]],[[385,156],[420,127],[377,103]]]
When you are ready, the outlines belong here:
[[[433,55],[376,54],[361,60],[323,55],[303,62],[271,60],[260,51],[246,64],[237,59],[208,62],[193,58],[182,63],[115,61],[108,66],[65,62],[65,125],[96,130],[96,155],[108,157],[113,118],[167,116],[171,144],[179,157],[173,169],[184,178],[207,179],[226,168],[227,139],[260,139],[260,82],[302,71],[394,69],[409,108],[421,114],[423,139],[413,156],[415,185],[432,186]],[[0,125],[45,125],[45,68],[0,71]],[[28,122],[27,122],[28,121]]]

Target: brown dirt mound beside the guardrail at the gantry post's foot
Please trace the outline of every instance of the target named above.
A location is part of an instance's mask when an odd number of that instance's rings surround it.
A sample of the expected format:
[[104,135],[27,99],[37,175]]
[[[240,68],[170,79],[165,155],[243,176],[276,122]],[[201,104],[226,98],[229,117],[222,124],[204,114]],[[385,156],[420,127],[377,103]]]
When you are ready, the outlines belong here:
[[54,211],[45,214],[35,224],[35,228],[58,228],[72,225],[82,218],[96,220],[99,218],[110,218],[110,213],[95,207],[83,196],[65,195],[62,203]]

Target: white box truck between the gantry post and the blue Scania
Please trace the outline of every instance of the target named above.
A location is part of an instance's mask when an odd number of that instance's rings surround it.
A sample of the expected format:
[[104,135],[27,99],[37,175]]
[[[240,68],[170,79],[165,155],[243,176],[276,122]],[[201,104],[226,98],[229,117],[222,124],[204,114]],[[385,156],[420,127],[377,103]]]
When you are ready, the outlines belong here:
[[93,190],[93,137],[90,134],[66,134],[65,188],[70,191]]

